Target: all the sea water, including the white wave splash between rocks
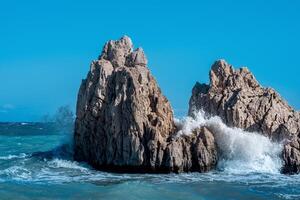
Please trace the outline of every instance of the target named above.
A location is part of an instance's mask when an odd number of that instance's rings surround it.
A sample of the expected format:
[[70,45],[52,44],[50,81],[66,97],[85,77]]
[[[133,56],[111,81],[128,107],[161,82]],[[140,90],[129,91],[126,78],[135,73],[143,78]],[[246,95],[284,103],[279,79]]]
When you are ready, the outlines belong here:
[[[281,144],[226,127],[219,118],[177,120],[178,134],[214,129],[220,151],[209,173],[117,174],[72,160],[71,134],[41,123],[0,125],[0,199],[300,199],[300,176],[282,175]],[[65,145],[67,144],[67,145]]]

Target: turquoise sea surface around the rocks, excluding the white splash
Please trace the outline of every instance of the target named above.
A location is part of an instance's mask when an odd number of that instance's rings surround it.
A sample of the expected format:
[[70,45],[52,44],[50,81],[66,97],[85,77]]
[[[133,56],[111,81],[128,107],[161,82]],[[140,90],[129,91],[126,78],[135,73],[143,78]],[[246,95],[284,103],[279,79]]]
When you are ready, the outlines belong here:
[[299,175],[95,171],[60,148],[70,135],[34,126],[0,130],[0,199],[300,199]]

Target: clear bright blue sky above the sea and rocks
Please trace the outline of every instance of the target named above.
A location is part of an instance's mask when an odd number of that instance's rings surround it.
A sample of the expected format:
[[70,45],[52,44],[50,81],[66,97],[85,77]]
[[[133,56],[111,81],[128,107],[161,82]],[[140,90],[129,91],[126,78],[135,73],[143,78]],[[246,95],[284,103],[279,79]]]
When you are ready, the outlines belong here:
[[38,121],[75,108],[81,79],[105,41],[142,46],[177,115],[196,81],[224,58],[300,109],[300,1],[0,2],[0,121]]

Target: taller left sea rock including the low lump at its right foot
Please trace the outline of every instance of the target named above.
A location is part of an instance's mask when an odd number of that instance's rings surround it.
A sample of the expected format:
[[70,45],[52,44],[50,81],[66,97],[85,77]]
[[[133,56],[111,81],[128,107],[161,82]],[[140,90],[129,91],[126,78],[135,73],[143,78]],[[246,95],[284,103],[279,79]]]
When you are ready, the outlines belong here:
[[140,48],[124,36],[105,44],[83,80],[77,102],[75,160],[129,172],[208,171],[216,144],[205,127],[177,136],[169,101]]

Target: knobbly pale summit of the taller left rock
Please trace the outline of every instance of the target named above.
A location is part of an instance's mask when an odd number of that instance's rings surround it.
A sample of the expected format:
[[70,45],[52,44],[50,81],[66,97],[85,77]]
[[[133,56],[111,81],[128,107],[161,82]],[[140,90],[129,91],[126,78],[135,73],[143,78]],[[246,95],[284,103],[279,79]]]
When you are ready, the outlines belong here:
[[99,56],[99,60],[101,59],[110,61],[114,68],[146,66],[148,62],[142,48],[133,51],[132,40],[126,35],[119,40],[108,41]]

